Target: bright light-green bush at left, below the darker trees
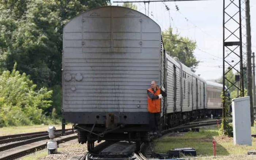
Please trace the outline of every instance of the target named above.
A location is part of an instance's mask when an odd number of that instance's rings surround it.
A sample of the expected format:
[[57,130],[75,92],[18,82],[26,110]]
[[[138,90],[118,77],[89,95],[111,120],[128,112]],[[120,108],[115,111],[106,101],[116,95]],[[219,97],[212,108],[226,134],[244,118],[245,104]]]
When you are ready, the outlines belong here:
[[40,124],[46,119],[44,110],[51,106],[52,91],[46,88],[36,90],[36,85],[25,73],[4,71],[0,75],[0,124],[29,125]]

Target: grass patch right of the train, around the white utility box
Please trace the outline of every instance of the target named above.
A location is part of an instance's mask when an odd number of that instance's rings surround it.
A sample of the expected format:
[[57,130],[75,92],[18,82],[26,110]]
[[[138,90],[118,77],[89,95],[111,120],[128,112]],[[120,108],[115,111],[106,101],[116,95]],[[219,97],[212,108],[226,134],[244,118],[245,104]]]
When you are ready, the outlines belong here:
[[[252,127],[253,133],[256,133],[256,127]],[[154,151],[157,153],[166,153],[174,148],[194,147],[200,159],[211,159],[213,155],[213,138],[216,140],[216,155],[219,159],[247,159],[247,157],[243,157],[247,151],[256,149],[256,138],[252,138],[252,146],[234,146],[233,137],[219,136],[217,127],[211,127],[200,129],[200,132],[176,133],[171,136],[163,136],[154,141]]]

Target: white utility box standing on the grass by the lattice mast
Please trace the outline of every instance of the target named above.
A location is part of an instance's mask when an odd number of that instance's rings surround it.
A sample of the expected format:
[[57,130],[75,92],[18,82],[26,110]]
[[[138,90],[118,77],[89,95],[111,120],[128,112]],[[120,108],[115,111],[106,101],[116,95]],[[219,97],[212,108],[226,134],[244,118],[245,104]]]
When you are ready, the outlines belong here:
[[232,99],[234,145],[252,145],[250,97]]

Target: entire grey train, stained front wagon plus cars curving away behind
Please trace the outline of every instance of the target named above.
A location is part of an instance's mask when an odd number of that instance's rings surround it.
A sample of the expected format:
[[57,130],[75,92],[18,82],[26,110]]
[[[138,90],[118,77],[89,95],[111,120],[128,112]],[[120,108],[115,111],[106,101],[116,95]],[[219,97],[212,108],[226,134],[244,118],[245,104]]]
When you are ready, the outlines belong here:
[[[165,53],[161,28],[130,8],[95,8],[63,29],[63,117],[79,143],[146,141],[147,89],[165,87],[163,129],[221,110],[221,85],[208,83]],[[213,97],[214,96],[214,97]]]

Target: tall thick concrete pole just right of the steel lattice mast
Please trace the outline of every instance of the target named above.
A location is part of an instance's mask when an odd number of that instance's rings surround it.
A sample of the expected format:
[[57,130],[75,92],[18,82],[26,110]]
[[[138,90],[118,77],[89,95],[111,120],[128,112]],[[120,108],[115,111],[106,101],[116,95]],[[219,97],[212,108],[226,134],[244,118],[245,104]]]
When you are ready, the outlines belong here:
[[254,125],[253,116],[253,99],[252,99],[252,42],[251,42],[251,16],[250,16],[250,0],[245,0],[245,20],[246,20],[246,42],[247,42],[247,94],[250,96],[251,108],[251,126]]

